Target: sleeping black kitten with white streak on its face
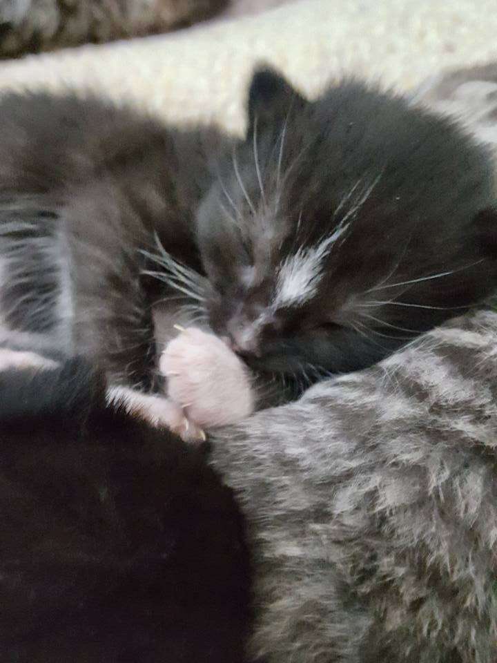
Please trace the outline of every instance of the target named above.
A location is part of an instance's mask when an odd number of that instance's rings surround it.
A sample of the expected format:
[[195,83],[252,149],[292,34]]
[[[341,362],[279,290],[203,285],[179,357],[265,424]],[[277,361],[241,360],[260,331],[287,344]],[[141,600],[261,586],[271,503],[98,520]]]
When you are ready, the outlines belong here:
[[494,289],[491,164],[455,124],[357,81],[309,102],[270,70],[248,116],[235,141],[97,99],[3,97],[7,325],[160,391],[153,306],[181,296],[253,369],[302,388]]

